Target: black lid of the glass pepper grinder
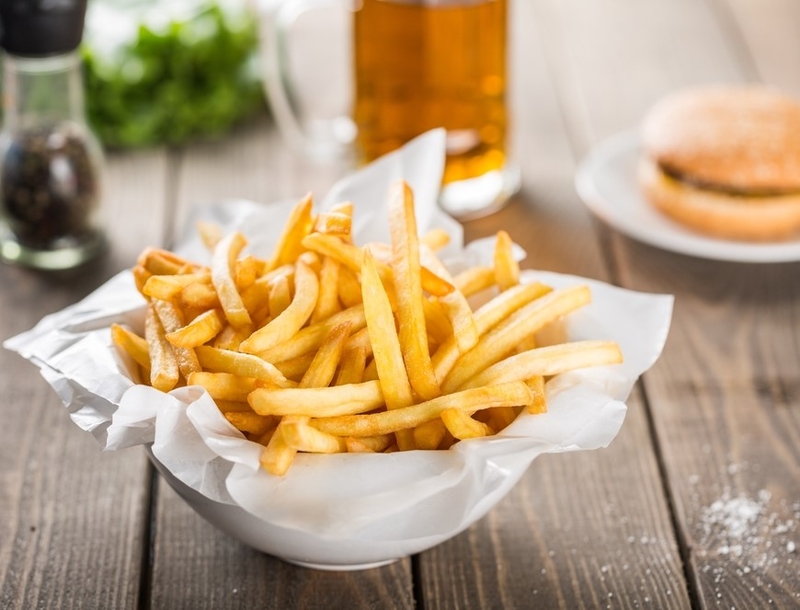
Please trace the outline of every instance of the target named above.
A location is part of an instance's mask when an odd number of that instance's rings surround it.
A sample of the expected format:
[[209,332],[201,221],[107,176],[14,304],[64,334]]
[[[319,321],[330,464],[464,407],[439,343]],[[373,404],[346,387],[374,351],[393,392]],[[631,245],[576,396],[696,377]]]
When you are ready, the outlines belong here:
[[83,37],[87,0],[0,0],[0,46],[11,55],[69,53]]

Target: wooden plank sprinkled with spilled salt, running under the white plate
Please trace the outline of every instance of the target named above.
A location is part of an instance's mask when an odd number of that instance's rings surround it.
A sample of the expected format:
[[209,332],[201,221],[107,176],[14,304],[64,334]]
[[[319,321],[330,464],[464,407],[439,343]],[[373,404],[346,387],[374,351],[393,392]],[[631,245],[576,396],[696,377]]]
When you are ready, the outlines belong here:
[[[730,23],[713,6],[640,5],[548,4],[549,14],[569,15],[561,21],[563,49],[592,49],[551,56],[554,73],[568,81],[561,89],[574,96],[564,107],[582,126],[573,134],[578,150],[636,126],[647,100],[667,89],[747,80],[743,58],[760,57],[758,48],[735,46]],[[784,27],[797,24],[794,10],[778,17]],[[609,31],[643,34],[612,43]],[[775,61],[765,55],[762,63]],[[601,65],[630,75],[630,86],[599,82]],[[649,66],[649,79],[634,78],[641,66]],[[698,603],[796,607],[797,266],[697,260],[617,234],[613,252],[624,285],[676,295],[670,340],[644,387]]]

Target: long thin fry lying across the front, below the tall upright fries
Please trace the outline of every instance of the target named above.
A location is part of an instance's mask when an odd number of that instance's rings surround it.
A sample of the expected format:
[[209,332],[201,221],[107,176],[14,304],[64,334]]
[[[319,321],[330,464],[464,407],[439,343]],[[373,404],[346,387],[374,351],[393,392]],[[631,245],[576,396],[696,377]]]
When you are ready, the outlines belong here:
[[530,402],[530,389],[525,383],[516,381],[444,394],[426,402],[377,413],[312,419],[311,425],[334,436],[375,436],[410,430],[440,417],[450,408],[474,411],[490,407],[527,406]]

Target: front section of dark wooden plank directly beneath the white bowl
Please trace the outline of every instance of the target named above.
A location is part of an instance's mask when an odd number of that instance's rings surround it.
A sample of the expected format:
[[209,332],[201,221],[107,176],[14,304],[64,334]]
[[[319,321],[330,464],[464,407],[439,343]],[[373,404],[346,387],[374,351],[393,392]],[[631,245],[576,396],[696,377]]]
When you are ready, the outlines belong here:
[[163,479],[154,551],[152,608],[414,607],[410,560],[360,572],[290,565],[215,529]]

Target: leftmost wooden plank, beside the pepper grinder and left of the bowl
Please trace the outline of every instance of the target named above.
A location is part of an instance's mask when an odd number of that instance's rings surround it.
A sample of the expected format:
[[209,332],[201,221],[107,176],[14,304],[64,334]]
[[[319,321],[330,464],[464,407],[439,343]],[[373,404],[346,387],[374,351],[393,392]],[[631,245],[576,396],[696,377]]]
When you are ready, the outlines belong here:
[[[110,256],[59,274],[0,266],[0,338],[82,298],[144,245],[152,217],[142,211],[158,218],[163,204],[163,156],[133,162],[133,174],[147,172],[149,181],[126,180],[128,163],[109,159],[106,211],[125,219],[109,227]],[[135,608],[148,504],[144,456],[101,454],[16,355],[2,351],[0,371],[0,606]]]

